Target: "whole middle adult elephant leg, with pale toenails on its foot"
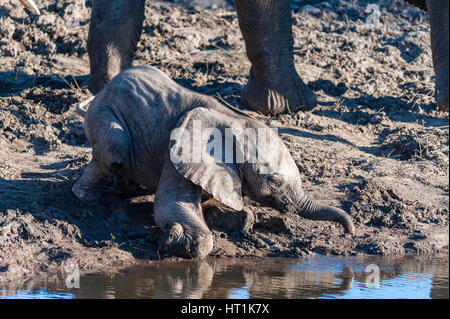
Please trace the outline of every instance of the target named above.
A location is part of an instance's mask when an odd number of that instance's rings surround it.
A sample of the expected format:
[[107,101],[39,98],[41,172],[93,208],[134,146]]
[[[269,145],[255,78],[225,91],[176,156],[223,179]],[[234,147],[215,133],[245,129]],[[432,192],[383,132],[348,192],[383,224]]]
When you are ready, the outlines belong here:
[[309,109],[317,104],[294,65],[289,0],[235,0],[239,26],[252,63],[242,92],[245,106],[264,114]]

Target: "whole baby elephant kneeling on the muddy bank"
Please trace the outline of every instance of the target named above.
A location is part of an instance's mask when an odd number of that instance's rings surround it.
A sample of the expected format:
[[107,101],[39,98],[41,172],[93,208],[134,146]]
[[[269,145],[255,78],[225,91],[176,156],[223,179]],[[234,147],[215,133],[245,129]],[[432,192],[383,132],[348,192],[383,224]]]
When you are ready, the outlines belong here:
[[165,229],[163,252],[198,258],[212,250],[202,193],[230,211],[244,210],[246,194],[281,212],[337,222],[354,232],[347,213],[304,194],[298,168],[275,131],[156,68],[120,73],[79,112],[93,155],[74,194],[91,198],[106,172],[144,185],[155,193],[155,222]]

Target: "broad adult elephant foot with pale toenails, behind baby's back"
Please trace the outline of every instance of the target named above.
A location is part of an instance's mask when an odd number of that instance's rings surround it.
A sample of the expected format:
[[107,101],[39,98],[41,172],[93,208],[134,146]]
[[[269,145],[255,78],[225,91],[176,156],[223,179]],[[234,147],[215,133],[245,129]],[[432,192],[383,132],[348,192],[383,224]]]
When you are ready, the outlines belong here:
[[307,111],[317,105],[314,92],[294,70],[291,76],[266,80],[250,74],[242,92],[244,106],[265,115]]

